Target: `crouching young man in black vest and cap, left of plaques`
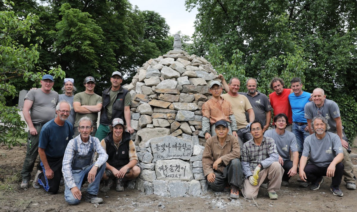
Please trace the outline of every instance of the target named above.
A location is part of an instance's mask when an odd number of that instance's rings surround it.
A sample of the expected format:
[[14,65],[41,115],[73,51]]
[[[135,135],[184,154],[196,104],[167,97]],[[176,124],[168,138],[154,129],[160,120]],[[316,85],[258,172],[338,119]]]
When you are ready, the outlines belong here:
[[103,175],[104,186],[102,192],[108,192],[116,179],[116,191],[124,191],[127,180],[139,176],[141,168],[137,165],[135,144],[130,139],[130,133],[125,132],[124,122],[115,118],[109,126],[110,133],[100,144],[108,154],[106,169]]

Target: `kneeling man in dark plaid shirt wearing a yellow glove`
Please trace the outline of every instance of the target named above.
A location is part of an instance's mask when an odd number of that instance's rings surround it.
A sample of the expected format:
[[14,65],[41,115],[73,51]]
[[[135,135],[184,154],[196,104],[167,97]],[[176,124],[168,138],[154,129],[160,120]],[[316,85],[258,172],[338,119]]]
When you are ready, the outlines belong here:
[[284,169],[278,162],[279,154],[272,138],[264,137],[263,125],[253,122],[250,125],[253,139],[243,145],[242,168],[244,173],[243,197],[247,199],[258,196],[262,183],[268,183],[270,199],[277,199],[276,191],[280,189]]

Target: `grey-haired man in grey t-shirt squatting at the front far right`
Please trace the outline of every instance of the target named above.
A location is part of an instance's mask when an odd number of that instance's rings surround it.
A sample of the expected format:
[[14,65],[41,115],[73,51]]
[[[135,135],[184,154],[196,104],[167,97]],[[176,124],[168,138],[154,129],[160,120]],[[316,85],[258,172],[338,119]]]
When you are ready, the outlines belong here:
[[[320,188],[323,176],[332,177],[330,190],[335,196],[343,196],[340,184],[343,175],[343,151],[340,138],[335,133],[328,132],[330,126],[323,116],[312,118],[311,131],[306,137],[300,159],[299,175],[302,181],[311,182],[311,190]],[[307,158],[310,156],[309,163]]]

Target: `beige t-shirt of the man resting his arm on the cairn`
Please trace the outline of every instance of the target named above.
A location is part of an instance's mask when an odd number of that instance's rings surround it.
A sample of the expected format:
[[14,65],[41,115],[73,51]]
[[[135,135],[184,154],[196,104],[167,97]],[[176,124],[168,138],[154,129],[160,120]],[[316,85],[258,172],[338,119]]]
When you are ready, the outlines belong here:
[[222,94],[221,97],[231,103],[233,115],[237,122],[237,129],[245,128],[248,124],[245,112],[252,109],[248,98],[241,94],[237,97],[231,97],[228,93]]

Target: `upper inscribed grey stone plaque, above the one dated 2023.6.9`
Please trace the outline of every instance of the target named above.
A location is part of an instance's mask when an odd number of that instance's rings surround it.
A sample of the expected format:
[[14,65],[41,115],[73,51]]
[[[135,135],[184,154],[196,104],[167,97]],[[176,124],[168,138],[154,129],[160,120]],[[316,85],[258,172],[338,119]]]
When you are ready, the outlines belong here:
[[156,161],[174,158],[189,160],[192,156],[193,145],[191,140],[167,135],[151,138],[150,143],[152,154]]

